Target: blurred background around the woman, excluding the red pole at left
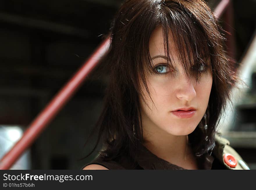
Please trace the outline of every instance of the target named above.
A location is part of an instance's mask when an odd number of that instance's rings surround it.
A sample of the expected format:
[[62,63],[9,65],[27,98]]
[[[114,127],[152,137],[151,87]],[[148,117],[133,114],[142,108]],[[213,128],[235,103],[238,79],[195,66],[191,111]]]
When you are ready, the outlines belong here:
[[[0,158],[83,65],[109,31],[123,0],[0,0]],[[220,0],[207,1],[212,10]],[[227,50],[246,85],[220,122],[251,169],[256,169],[256,0],[230,1],[220,24]],[[222,32],[223,33],[223,32]],[[104,64],[104,63],[100,63]],[[83,147],[102,110],[108,72],[96,67],[77,93],[11,169],[80,169]]]

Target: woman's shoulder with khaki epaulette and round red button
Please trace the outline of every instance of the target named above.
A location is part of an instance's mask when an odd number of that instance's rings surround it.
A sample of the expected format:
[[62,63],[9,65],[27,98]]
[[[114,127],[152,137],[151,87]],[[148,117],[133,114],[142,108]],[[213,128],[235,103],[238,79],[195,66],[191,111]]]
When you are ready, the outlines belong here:
[[241,155],[230,146],[229,140],[222,137],[221,133],[215,134],[213,153],[226,169],[249,169]]

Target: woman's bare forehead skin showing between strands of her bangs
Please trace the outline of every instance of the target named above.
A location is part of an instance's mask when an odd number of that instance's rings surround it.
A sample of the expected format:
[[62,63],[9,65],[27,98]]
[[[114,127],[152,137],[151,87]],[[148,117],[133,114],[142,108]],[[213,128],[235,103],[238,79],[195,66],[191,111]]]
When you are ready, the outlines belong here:
[[[170,47],[170,53],[173,56],[173,59],[177,60],[177,51],[175,48],[171,30],[169,30],[168,40],[169,40],[168,46]],[[149,40],[149,52],[150,52],[151,58],[156,55],[165,55],[162,26],[159,26],[153,30]]]

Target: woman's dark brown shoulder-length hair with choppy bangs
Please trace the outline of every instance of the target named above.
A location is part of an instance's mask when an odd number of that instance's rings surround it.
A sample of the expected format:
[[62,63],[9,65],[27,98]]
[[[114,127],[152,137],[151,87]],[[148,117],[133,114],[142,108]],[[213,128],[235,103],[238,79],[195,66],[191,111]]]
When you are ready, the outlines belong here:
[[[110,28],[111,45],[102,61],[110,69],[110,80],[103,111],[88,138],[99,129],[97,142],[89,155],[102,141],[104,149],[100,153],[106,159],[125,154],[136,161],[143,144],[139,97],[145,102],[145,95],[141,93],[141,84],[150,96],[145,80],[153,65],[149,39],[158,26],[163,27],[165,54],[170,67],[174,67],[174,63],[169,53],[169,32],[173,35],[179,59],[188,76],[199,82],[200,65],[212,71],[213,83],[207,108],[208,129],[204,130],[205,121],[202,118],[189,134],[189,141],[197,156],[214,148],[216,127],[237,78],[228,64],[224,51],[225,37],[221,35],[221,27],[213,13],[202,0],[127,0],[122,3]],[[191,67],[194,69],[191,70]]]

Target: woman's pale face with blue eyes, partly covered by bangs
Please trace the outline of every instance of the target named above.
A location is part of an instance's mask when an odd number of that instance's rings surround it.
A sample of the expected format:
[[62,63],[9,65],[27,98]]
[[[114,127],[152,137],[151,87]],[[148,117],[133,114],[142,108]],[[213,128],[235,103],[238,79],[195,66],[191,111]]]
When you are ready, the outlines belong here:
[[[171,35],[169,43],[173,47]],[[151,58],[165,55],[161,27],[153,31],[149,48]],[[146,82],[155,106],[145,87],[142,87],[143,93],[147,95],[146,102],[152,109],[151,111],[140,97],[143,135],[145,132],[159,135],[188,135],[195,130],[207,109],[212,86],[211,69],[207,74],[202,72],[199,83],[196,83],[195,79],[185,74],[174,48],[171,49],[171,53],[177,65],[175,70],[168,69],[167,60],[158,57],[152,60],[157,74],[147,74]],[[195,108],[195,112],[192,116],[185,115],[187,118],[178,117],[172,112],[189,107]]]

